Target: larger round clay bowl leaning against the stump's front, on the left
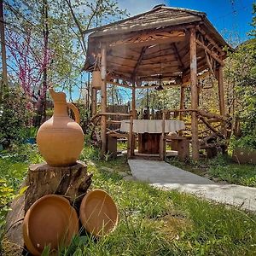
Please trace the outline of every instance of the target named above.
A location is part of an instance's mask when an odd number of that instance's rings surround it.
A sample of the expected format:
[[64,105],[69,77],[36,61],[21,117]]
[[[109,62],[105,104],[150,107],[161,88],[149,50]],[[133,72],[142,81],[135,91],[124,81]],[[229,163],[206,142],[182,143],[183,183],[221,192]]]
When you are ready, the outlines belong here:
[[77,213],[61,195],[44,195],[35,201],[23,222],[24,242],[33,255],[41,255],[48,245],[51,252],[68,246],[78,232]]

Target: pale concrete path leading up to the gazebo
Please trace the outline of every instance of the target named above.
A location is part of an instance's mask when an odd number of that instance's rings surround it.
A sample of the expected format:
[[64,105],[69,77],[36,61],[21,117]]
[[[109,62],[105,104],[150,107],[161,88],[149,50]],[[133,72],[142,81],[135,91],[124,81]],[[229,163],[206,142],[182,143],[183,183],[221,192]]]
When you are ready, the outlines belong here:
[[205,177],[156,160],[128,160],[128,163],[132,176],[155,187],[177,189],[256,212],[256,188],[214,183]]

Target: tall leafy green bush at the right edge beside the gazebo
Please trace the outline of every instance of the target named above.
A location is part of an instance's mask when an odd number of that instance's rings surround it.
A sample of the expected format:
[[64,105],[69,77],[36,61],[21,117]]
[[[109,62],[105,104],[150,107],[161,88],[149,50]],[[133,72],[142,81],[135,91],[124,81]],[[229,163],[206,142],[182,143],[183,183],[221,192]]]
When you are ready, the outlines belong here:
[[[253,3],[253,27],[255,28],[255,3]],[[241,122],[241,138],[233,138],[233,146],[256,148],[256,38],[237,47],[227,62],[225,76],[235,85],[235,118]]]

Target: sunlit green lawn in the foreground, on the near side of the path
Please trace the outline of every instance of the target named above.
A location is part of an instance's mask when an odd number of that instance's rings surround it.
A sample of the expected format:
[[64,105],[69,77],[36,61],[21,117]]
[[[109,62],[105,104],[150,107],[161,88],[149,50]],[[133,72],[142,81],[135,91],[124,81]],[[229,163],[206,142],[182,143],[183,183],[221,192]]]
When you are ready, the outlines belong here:
[[[14,194],[29,163],[42,160],[36,148],[3,157],[4,188],[13,189]],[[85,148],[81,158],[93,173],[91,188],[105,189],[117,203],[119,225],[100,240],[81,230],[81,236],[63,248],[61,255],[256,255],[256,216],[252,213],[126,181],[119,175],[129,172],[125,158],[98,160],[95,148]]]

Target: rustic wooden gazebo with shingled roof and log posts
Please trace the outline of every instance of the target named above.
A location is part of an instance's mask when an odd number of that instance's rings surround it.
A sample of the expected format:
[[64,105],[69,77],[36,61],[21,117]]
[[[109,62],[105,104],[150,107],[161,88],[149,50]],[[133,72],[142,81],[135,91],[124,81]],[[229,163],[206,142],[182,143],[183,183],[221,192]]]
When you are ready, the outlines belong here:
[[[90,33],[91,32],[91,33]],[[180,86],[180,119],[191,113],[192,158],[199,159],[201,148],[198,124],[226,138],[223,67],[229,45],[212,26],[207,15],[190,9],[156,6],[140,15],[106,26],[87,30],[90,33],[84,70],[93,71],[101,59],[101,141],[102,154],[107,148],[107,84],[132,90],[131,113],[136,118],[136,90],[143,81],[164,81],[163,87]],[[212,73],[218,79],[219,113],[199,108],[198,79]],[[154,87],[155,85],[151,85]],[[191,88],[191,108],[184,109],[184,89]],[[150,88],[150,84],[147,86]],[[92,113],[96,113],[96,89],[92,90]],[[212,126],[219,122],[220,130]],[[164,135],[164,134],[163,134]],[[164,140],[164,137],[163,137]]]

